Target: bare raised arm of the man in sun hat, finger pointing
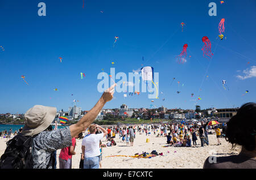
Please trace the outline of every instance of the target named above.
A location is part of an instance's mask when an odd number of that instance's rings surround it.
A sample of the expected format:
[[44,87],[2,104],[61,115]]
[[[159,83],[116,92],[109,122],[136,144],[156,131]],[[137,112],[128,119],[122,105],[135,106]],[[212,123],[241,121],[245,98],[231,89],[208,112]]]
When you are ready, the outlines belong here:
[[79,122],[77,122],[75,125],[69,126],[72,138],[74,138],[76,135],[79,135],[80,132],[85,131],[85,129],[89,127],[90,124],[92,124],[92,122],[96,119],[98,113],[100,113],[106,102],[112,100],[115,85],[116,84],[113,84],[112,87],[108,88],[103,93],[97,104],[87,114],[85,114]]

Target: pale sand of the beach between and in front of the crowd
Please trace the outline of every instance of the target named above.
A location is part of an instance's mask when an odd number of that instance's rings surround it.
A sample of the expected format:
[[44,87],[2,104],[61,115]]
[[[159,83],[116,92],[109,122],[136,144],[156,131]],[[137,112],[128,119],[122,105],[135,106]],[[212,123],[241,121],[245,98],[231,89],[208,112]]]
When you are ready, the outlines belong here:
[[[150,131],[151,132],[151,131]],[[210,155],[213,156],[230,156],[237,155],[241,151],[241,147],[237,146],[231,150],[232,145],[224,138],[221,138],[221,145],[217,145],[216,135],[208,135],[209,145],[201,147],[200,139],[197,138],[196,147],[163,147],[166,144],[166,137],[156,138],[151,132],[151,135],[139,134],[136,131],[134,146],[128,147],[126,141],[122,142],[119,135],[114,139],[117,145],[113,147],[104,147],[102,152],[102,169],[201,169],[204,161]],[[146,143],[149,139],[149,143]],[[102,143],[106,144],[106,138],[102,139]],[[81,157],[82,140],[77,139],[75,152],[76,155],[72,157],[72,168],[78,169]],[[0,156],[4,153],[6,148],[5,139],[0,138]],[[152,158],[132,158],[132,157],[106,157],[113,155],[134,156],[135,153],[151,153],[156,150],[158,153],[163,153],[163,156],[156,156]],[[169,151],[170,153],[167,153]],[[57,168],[59,168],[59,154],[60,149],[57,150]]]

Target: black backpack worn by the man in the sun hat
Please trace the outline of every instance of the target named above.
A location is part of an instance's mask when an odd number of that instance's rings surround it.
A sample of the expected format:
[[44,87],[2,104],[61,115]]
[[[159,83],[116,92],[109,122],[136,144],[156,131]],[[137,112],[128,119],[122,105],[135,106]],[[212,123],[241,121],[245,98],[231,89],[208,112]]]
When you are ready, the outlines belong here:
[[[6,143],[5,153],[0,158],[0,169],[33,169],[32,149],[35,136],[18,134],[9,140]],[[55,160],[56,158],[52,152],[47,169],[50,165],[54,168]]]

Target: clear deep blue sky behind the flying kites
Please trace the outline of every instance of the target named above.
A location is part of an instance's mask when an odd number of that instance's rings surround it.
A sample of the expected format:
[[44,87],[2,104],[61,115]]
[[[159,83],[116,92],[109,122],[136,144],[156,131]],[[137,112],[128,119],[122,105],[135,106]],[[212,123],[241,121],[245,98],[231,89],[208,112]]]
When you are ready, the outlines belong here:
[[[46,3],[46,16],[38,16],[39,2]],[[217,4],[217,16],[208,15],[210,2]],[[232,108],[256,100],[253,0],[222,5],[220,1],[85,0],[84,8],[82,0],[2,0],[0,15],[0,45],[5,48],[0,50],[0,113],[25,113],[36,104],[68,110],[74,99],[82,110],[89,110],[101,96],[97,75],[102,68],[109,73],[114,67],[115,73],[128,75],[141,64],[159,72],[163,94],[152,103],[156,107],[195,109],[192,100],[198,96],[202,109]],[[186,24],[183,32],[181,22]],[[115,36],[119,39],[113,47]],[[212,42],[212,59],[203,57],[203,36]],[[179,64],[175,57],[184,44],[188,44],[187,62]],[[229,90],[222,87],[222,80]],[[249,93],[242,96],[245,91]],[[123,93],[115,93],[104,108],[121,104],[150,108],[147,95],[124,98]]]

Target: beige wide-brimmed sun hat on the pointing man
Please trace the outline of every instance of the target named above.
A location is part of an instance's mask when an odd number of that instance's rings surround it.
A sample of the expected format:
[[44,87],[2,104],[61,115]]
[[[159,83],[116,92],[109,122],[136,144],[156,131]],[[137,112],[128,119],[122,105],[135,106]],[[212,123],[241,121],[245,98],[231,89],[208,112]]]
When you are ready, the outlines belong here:
[[34,136],[46,130],[56,115],[56,108],[35,105],[24,115],[25,125],[22,130],[24,136]]

